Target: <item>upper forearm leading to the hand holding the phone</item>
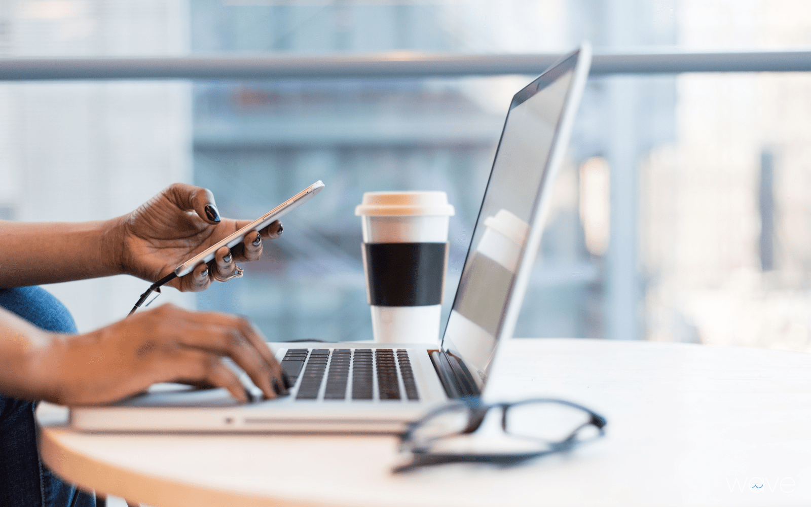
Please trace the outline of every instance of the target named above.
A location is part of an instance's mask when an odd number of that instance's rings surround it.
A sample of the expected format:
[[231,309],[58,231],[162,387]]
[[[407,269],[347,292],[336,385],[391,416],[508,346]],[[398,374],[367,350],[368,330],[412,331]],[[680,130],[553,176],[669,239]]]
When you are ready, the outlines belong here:
[[123,273],[119,222],[0,221],[0,287]]

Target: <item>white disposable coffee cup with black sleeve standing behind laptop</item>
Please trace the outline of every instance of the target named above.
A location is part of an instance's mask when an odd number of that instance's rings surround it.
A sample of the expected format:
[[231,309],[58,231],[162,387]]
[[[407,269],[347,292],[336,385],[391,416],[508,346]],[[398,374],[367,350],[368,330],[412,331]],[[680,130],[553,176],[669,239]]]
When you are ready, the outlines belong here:
[[363,194],[355,215],[375,342],[439,342],[453,213],[442,191]]

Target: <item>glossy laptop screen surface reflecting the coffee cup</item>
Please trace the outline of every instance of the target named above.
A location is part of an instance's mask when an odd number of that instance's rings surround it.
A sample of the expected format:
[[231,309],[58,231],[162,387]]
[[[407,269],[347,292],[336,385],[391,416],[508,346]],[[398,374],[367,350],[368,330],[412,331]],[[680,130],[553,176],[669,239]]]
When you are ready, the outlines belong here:
[[463,359],[480,388],[541,189],[551,184],[545,181],[547,165],[576,62],[576,56],[567,58],[517,92],[504,123],[442,343]]

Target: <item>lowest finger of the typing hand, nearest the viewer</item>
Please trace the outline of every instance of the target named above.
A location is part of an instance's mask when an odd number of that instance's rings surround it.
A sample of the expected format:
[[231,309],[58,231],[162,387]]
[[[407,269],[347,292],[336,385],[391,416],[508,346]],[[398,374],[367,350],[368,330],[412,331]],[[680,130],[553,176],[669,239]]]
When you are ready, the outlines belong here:
[[191,385],[213,385],[228,389],[231,396],[238,402],[249,401],[245,386],[239,381],[234,372],[226,367],[220,357],[211,352],[194,349],[178,349],[171,354],[171,365],[165,367],[175,373],[171,381]]

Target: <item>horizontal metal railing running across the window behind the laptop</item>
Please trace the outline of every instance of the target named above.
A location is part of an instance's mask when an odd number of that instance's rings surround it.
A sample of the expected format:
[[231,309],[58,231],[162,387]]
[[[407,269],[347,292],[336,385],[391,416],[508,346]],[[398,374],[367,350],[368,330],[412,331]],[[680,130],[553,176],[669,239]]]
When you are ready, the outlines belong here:
[[[380,79],[538,74],[558,54],[0,58],[0,80]],[[811,51],[595,54],[592,75],[811,71]]]

